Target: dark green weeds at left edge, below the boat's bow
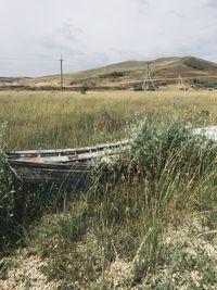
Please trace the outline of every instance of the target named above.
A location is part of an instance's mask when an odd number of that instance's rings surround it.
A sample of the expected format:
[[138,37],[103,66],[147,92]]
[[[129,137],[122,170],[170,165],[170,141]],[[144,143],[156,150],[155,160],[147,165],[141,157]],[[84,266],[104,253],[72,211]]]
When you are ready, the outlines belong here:
[[65,199],[56,187],[30,187],[8,164],[4,151],[7,125],[0,128],[0,256],[24,241],[22,235],[44,212],[55,212]]

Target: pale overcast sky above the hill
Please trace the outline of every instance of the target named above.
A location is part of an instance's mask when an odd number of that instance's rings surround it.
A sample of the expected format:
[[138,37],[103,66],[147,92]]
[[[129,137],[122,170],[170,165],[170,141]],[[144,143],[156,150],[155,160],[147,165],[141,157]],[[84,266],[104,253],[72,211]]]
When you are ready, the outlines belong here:
[[127,60],[217,61],[217,0],[0,0],[0,76]]

